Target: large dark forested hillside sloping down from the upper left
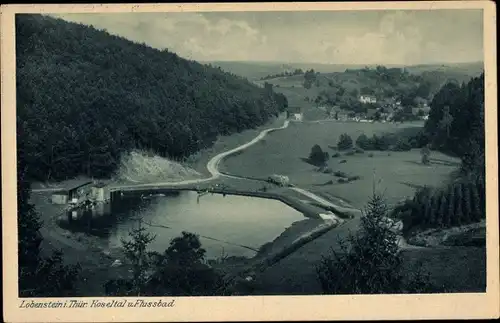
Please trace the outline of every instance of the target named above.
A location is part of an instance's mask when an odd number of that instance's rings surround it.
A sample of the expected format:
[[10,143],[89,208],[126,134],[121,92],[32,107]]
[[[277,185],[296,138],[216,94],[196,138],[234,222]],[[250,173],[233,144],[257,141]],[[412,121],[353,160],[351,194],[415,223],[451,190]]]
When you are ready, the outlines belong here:
[[18,154],[31,179],[105,177],[122,152],[180,158],[287,106],[218,68],[84,25],[16,16]]

